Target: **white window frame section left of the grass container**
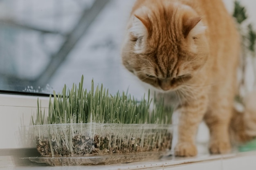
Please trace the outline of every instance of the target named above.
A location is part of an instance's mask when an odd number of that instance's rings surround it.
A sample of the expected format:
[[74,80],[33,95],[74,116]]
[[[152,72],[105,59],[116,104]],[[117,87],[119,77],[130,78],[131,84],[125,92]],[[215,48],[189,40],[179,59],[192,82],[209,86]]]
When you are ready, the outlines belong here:
[[[43,109],[47,108],[48,97],[40,99]],[[0,94],[0,150],[35,147],[27,130],[32,125],[31,115],[36,115],[36,110],[37,97]]]

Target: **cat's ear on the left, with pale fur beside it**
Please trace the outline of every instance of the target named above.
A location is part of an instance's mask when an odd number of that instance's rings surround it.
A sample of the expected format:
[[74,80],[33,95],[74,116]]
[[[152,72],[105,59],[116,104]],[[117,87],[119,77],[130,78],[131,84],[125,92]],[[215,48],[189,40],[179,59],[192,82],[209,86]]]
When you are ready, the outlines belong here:
[[151,33],[152,24],[146,13],[146,9],[142,8],[135,12],[132,16],[132,26],[129,29],[130,33],[136,38],[144,37]]

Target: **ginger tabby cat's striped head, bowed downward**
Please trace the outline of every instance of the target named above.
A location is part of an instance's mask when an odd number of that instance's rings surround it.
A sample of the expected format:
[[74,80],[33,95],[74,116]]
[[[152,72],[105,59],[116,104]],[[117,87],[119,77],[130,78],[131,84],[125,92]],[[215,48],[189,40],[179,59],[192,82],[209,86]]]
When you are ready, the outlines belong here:
[[122,60],[141,81],[172,91],[196,76],[207,61],[209,48],[202,18],[189,7],[167,6],[158,4],[135,11]]

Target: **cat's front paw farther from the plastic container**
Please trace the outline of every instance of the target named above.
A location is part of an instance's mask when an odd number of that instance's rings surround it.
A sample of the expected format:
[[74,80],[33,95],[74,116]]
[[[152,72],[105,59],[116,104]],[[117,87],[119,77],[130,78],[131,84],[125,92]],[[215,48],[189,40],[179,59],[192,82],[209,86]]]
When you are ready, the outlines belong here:
[[212,154],[227,153],[231,150],[230,143],[228,141],[212,141],[210,144],[210,152]]

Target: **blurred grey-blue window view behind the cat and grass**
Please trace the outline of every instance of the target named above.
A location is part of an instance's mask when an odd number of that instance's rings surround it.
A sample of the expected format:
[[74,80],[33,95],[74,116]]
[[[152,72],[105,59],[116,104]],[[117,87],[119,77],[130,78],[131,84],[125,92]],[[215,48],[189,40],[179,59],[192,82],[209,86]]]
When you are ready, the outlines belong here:
[[[0,92],[52,93],[91,81],[110,93],[146,91],[121,64],[135,0],[0,0]],[[230,13],[234,0],[224,0]],[[256,1],[242,0],[256,23]]]

